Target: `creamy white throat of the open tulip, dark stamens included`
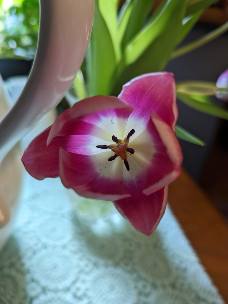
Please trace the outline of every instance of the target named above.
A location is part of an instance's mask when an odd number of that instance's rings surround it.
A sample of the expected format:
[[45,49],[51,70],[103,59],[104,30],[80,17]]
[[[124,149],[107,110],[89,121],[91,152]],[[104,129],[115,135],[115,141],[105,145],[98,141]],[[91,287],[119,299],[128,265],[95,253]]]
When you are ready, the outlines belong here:
[[102,117],[91,134],[89,154],[94,169],[105,178],[136,180],[153,161],[152,135],[142,119],[130,118]]

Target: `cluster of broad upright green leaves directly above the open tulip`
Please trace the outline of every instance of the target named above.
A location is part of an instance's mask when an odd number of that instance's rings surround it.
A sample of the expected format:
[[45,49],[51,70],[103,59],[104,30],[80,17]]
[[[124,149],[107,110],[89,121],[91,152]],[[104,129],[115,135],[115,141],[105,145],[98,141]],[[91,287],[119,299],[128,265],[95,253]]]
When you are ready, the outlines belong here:
[[[117,95],[140,74],[163,71],[174,49],[202,10],[217,0],[95,0],[94,25],[86,57],[87,92]],[[79,83],[78,83],[79,85]]]

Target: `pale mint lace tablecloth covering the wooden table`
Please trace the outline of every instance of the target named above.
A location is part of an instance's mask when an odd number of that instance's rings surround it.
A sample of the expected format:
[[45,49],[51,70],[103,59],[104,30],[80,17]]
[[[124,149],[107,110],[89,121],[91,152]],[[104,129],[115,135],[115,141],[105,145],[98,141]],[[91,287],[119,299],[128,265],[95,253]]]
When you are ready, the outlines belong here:
[[[87,213],[76,211],[84,204]],[[1,304],[223,303],[169,206],[146,237],[109,203],[98,202],[103,216],[94,204],[59,179],[25,174],[15,229],[0,253]]]

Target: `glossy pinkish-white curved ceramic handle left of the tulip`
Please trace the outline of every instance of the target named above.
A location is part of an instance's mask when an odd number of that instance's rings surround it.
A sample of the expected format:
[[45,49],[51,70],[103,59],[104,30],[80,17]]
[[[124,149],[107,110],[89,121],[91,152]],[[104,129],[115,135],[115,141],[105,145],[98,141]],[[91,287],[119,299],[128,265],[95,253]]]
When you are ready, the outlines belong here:
[[41,0],[35,61],[15,105],[0,122],[0,162],[71,86],[91,34],[94,0]]

